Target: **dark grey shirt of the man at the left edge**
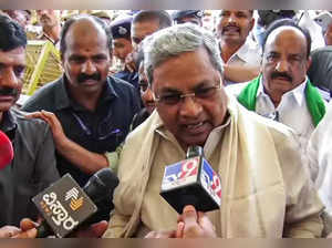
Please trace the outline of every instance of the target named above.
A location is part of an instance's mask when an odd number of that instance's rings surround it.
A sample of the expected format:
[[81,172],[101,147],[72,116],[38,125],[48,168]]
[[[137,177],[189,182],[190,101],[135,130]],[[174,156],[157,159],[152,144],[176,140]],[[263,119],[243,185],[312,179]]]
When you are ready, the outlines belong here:
[[59,179],[55,147],[46,123],[27,120],[14,108],[3,113],[0,130],[14,149],[13,161],[0,172],[0,227],[19,226],[22,218],[38,216],[31,198]]

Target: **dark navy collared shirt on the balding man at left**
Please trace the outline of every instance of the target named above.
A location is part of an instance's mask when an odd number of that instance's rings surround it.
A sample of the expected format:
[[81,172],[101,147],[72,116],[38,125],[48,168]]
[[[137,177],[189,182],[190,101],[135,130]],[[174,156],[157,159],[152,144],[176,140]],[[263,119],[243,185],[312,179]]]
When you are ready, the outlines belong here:
[[[87,151],[104,154],[113,152],[124,141],[134,114],[138,111],[135,89],[110,76],[97,107],[91,112],[75,102],[66,89],[66,79],[46,84],[32,95],[22,110],[53,112],[65,135]],[[80,170],[65,157],[56,154],[61,175],[70,173],[83,186],[91,175]]]

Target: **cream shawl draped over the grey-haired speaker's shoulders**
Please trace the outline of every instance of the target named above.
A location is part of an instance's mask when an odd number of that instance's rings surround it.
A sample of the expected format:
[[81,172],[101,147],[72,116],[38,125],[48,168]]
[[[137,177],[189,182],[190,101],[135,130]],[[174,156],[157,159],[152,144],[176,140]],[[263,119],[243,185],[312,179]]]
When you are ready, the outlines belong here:
[[[292,132],[250,113],[229,97],[230,125],[220,149],[222,182],[219,237],[320,236],[322,205],[310,184]],[[151,166],[163,125],[154,113],[126,140],[121,155],[115,210],[104,237],[132,237],[137,231]],[[221,144],[221,143],[220,143]],[[222,169],[221,169],[222,168]]]

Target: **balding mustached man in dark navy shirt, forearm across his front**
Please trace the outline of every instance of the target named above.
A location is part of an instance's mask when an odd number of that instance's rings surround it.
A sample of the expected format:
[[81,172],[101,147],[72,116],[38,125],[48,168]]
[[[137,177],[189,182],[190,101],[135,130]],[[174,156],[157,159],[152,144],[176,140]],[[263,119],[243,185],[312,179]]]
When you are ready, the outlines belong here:
[[108,76],[111,37],[96,17],[68,20],[60,41],[63,76],[40,89],[22,107],[41,111],[32,116],[51,125],[60,174],[70,173],[81,186],[110,165],[104,154],[124,141],[138,111],[135,89]]

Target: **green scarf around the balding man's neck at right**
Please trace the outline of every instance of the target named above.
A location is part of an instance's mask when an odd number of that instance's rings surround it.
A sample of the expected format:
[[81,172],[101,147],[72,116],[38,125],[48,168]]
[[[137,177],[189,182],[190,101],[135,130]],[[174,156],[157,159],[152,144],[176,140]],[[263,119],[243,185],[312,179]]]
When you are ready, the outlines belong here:
[[[261,76],[260,74],[253,79],[238,96],[238,101],[249,111],[256,111],[256,96]],[[310,80],[307,82],[304,94],[313,125],[317,126],[325,114],[324,101],[318,90],[311,84]]]

